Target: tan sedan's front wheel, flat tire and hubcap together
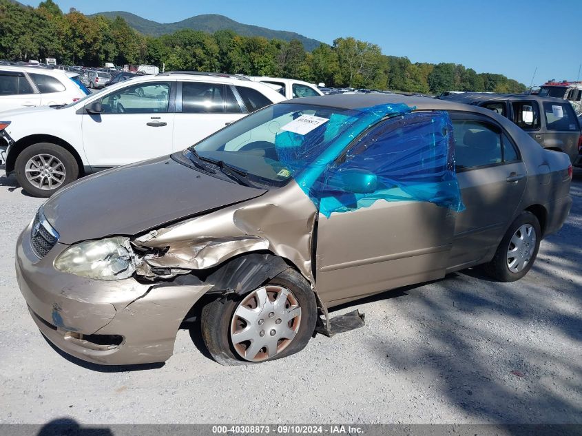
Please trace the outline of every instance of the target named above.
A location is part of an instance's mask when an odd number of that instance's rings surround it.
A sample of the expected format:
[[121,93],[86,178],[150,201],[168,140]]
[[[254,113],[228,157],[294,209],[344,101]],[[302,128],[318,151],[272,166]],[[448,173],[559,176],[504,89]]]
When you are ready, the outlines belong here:
[[309,282],[289,269],[246,295],[210,302],[202,309],[200,328],[216,362],[249,364],[304,349],[316,318]]

